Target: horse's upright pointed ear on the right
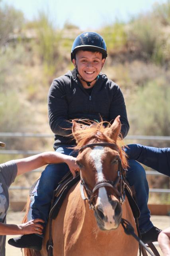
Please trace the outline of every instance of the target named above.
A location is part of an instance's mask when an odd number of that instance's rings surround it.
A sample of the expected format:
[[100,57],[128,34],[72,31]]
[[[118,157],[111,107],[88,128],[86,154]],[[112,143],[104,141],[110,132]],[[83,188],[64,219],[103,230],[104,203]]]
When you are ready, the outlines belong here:
[[120,116],[117,116],[113,122],[113,124],[110,126],[109,130],[107,130],[106,134],[109,136],[114,142],[116,142],[117,137],[120,134],[121,130],[121,122],[120,122]]

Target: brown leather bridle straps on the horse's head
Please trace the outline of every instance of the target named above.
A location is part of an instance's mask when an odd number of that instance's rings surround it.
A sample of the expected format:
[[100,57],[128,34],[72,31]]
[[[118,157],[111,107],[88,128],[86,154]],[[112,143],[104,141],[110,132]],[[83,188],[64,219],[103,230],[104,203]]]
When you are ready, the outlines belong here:
[[[84,148],[91,148],[94,146],[106,146],[106,147],[111,147],[114,150],[116,150],[117,152],[119,152],[119,148],[117,147],[116,144],[114,143],[107,143],[107,142],[103,142],[103,143],[93,143],[93,144],[87,144],[85,146],[82,146],[79,149],[79,152],[81,152],[82,150],[84,150]],[[92,208],[93,210],[95,210],[95,204],[94,204],[94,198],[95,196],[95,192],[96,190],[98,190],[99,188],[102,187],[109,187],[113,189],[113,192],[115,194],[115,196],[117,197],[117,199],[119,200],[120,204],[122,204],[124,202],[125,199],[125,169],[123,169],[121,160],[119,159],[119,165],[118,165],[118,175],[115,181],[111,181],[111,180],[101,180],[100,182],[97,182],[93,188],[93,190],[91,190],[88,185],[84,182],[84,180],[81,177],[81,194],[82,194],[82,198],[88,199],[88,203],[90,205],[90,208]],[[87,194],[87,198],[84,196],[84,190],[86,191]]]

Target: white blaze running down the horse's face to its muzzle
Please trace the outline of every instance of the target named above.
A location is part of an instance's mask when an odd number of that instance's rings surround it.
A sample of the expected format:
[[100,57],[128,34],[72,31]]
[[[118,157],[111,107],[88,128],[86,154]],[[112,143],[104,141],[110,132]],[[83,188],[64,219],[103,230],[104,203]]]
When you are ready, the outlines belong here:
[[[97,171],[96,182],[100,182],[106,179],[104,177],[103,168],[102,168],[102,156],[104,155],[104,153],[105,153],[105,149],[102,146],[96,146],[94,147],[92,152],[90,152],[90,156],[94,160],[94,165]],[[115,218],[115,208],[113,208],[113,206],[111,205],[111,202],[107,195],[106,188],[104,187],[99,188],[98,198],[96,201],[96,209],[97,208],[100,212],[102,212],[102,214],[104,214],[104,217],[105,217],[103,220],[104,222],[103,229],[111,230],[118,227],[119,224]]]

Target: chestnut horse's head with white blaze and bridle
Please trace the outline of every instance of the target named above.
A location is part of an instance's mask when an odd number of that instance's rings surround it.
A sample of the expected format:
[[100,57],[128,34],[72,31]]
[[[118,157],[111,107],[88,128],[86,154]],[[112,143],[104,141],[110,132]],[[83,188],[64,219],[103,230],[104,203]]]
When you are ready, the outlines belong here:
[[107,128],[101,122],[84,130],[73,121],[81,184],[101,230],[115,229],[121,221],[127,161],[117,144],[120,129],[119,116]]

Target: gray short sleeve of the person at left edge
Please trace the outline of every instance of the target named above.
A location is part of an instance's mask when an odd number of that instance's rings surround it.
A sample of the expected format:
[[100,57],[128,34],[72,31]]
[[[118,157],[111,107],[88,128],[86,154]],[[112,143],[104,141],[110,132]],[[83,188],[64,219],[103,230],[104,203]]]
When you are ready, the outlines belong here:
[[0,172],[6,181],[6,185],[9,186],[14,182],[17,175],[17,164],[14,160],[8,161],[4,164],[0,164]]

